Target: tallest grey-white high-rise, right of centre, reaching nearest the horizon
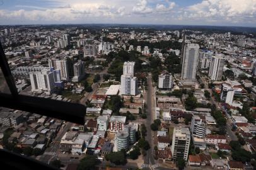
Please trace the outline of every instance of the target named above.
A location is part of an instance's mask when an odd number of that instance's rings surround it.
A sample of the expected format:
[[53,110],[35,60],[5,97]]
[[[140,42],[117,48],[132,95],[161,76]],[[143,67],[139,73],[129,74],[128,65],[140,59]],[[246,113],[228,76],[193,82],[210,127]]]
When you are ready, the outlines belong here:
[[199,45],[197,43],[185,44],[182,54],[182,79],[194,80],[197,72]]

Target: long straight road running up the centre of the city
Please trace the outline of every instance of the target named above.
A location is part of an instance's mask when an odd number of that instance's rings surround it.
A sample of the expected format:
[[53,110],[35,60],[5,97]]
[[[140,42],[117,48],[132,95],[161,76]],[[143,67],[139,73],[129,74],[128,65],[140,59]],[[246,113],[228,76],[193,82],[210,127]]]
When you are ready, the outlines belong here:
[[154,120],[154,101],[153,101],[153,85],[152,85],[152,76],[149,74],[148,76],[148,90],[146,94],[146,104],[147,104],[147,110],[148,110],[148,118],[146,120],[146,128],[147,128],[147,136],[146,140],[148,140],[149,145],[151,146],[151,149],[149,149],[146,152],[146,156],[144,157],[144,164],[154,164],[154,157],[153,157],[153,134],[151,131],[151,123],[153,123]]

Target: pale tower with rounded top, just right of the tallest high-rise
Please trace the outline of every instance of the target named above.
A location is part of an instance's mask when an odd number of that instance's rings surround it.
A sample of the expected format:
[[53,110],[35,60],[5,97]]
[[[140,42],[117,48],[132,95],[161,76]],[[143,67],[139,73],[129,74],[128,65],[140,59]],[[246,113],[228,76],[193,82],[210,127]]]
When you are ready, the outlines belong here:
[[215,55],[211,59],[209,77],[212,81],[219,81],[222,78],[225,60],[221,55]]

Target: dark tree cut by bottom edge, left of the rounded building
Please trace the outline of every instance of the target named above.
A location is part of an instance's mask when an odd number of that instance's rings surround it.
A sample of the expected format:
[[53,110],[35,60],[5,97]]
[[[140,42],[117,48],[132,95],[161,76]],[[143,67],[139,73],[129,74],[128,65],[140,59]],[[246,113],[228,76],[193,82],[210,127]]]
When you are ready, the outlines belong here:
[[96,165],[96,156],[86,156],[83,159],[81,159],[78,170],[92,170],[95,169]]

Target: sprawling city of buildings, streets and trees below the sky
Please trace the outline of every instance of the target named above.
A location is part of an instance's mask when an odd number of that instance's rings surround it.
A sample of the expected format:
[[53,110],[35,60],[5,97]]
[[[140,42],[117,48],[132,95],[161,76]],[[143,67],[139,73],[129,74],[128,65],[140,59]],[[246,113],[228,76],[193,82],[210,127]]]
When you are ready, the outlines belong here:
[[0,94],[13,81],[62,108],[1,104],[1,150],[64,170],[256,169],[255,27],[6,24],[0,42]]

